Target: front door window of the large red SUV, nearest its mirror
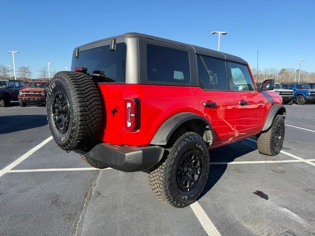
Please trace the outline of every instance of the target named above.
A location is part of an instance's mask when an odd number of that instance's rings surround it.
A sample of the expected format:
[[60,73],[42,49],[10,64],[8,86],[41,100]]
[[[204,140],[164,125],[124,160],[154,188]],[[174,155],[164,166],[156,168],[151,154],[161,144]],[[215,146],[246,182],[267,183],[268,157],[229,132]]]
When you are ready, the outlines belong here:
[[237,91],[253,91],[252,77],[246,65],[230,62],[233,89]]

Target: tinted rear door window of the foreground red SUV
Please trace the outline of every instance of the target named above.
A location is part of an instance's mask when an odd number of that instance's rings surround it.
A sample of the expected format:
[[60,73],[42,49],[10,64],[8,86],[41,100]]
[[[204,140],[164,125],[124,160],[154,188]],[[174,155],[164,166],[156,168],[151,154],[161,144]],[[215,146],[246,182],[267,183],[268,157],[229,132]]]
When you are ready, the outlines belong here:
[[202,89],[228,90],[225,61],[198,56],[197,63]]

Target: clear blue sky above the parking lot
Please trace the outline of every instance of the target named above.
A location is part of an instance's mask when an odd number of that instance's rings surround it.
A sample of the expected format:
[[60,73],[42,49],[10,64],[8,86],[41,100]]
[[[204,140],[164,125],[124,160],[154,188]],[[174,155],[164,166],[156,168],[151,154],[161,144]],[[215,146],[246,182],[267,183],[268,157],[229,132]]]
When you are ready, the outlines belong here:
[[32,77],[45,62],[52,70],[70,67],[73,48],[90,41],[136,31],[217,49],[259,69],[315,71],[314,0],[203,1],[21,1],[1,3],[0,64],[12,65],[7,51],[19,51],[16,66],[30,66]]

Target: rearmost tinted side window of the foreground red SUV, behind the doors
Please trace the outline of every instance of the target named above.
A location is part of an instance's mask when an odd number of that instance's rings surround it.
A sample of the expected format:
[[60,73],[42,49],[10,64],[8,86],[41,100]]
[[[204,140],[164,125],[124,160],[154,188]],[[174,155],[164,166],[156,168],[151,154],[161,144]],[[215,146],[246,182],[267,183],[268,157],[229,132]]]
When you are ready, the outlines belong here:
[[147,45],[148,80],[189,83],[188,52],[174,48]]

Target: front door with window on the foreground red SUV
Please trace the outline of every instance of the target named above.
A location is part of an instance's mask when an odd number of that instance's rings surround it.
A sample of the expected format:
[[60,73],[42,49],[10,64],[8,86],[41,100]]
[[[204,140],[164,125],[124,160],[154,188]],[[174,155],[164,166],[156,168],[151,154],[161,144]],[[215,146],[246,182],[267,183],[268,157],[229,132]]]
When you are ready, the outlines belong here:
[[228,67],[236,99],[235,138],[256,134],[261,129],[267,99],[255,90],[247,65],[229,62]]

